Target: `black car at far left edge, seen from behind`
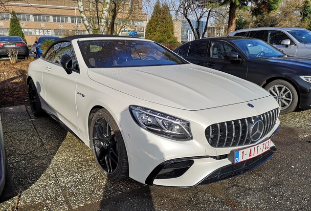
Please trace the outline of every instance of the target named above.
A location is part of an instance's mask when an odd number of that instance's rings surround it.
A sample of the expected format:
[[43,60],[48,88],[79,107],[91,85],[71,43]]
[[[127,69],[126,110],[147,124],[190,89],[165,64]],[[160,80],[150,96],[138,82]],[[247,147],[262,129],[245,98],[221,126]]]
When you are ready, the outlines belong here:
[[16,36],[1,36],[0,37],[0,57],[8,57],[9,49],[18,51],[17,56],[27,58],[29,57],[28,45],[23,42],[21,37]]

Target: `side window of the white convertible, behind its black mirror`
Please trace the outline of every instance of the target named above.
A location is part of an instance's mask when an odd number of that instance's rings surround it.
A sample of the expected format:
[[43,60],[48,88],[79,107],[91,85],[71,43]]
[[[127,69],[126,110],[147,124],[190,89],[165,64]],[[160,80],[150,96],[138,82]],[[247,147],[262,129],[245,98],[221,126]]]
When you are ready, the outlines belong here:
[[72,67],[74,69],[78,69],[77,60],[71,42],[58,42],[54,44],[46,53],[45,59],[53,63],[60,63],[62,56],[65,54],[72,58]]

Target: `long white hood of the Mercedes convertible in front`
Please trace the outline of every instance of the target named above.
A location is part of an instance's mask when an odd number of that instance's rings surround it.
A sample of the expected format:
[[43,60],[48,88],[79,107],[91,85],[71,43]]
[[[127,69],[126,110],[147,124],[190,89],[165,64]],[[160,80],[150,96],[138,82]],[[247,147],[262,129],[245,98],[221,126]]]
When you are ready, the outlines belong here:
[[185,110],[269,96],[256,84],[195,64],[92,68],[88,74],[90,79],[133,97]]

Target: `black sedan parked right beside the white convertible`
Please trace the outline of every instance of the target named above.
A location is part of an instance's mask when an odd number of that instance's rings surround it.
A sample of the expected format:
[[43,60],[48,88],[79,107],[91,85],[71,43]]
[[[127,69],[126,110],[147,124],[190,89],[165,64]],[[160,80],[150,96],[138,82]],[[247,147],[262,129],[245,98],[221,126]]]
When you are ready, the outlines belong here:
[[174,51],[191,63],[264,87],[283,114],[311,108],[311,58],[288,56],[267,42],[242,37],[204,38]]

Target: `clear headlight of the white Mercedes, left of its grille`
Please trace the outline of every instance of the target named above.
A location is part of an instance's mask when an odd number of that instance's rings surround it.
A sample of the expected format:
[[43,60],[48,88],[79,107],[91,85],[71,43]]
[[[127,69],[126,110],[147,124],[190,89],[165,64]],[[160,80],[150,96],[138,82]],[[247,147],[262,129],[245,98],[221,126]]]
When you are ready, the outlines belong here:
[[169,139],[192,139],[190,123],[148,108],[130,105],[132,117],[140,127]]

